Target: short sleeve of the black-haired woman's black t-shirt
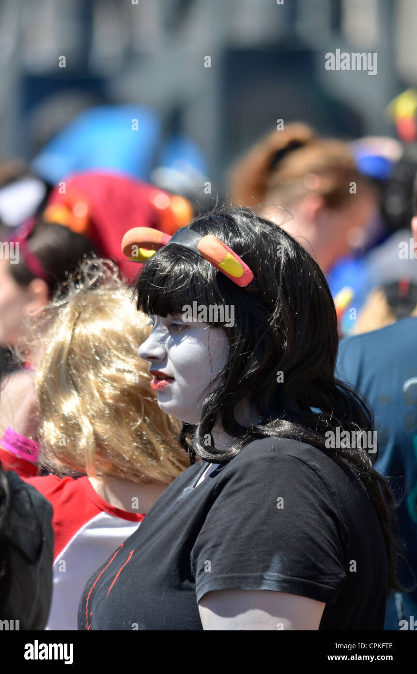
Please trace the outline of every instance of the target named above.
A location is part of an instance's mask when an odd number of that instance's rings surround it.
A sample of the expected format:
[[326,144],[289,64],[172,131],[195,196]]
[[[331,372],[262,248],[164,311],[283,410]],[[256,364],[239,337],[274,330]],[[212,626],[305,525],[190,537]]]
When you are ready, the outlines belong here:
[[197,602],[212,590],[243,589],[334,603],[346,580],[347,534],[327,485],[294,456],[234,461],[191,553]]

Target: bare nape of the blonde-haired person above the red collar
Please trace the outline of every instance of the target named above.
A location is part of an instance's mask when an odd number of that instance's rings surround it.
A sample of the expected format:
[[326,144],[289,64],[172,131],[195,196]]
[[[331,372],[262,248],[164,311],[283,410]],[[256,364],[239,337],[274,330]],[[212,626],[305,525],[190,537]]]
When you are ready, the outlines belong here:
[[117,477],[88,477],[98,495],[114,508],[146,515],[155,501],[168,487],[164,485],[139,485]]

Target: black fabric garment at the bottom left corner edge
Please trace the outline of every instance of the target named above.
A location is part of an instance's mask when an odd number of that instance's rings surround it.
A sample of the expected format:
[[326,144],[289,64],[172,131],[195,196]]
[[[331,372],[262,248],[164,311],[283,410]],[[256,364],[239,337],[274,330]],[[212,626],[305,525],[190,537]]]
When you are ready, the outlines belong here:
[[5,472],[9,511],[1,532],[9,559],[7,596],[0,619],[20,621],[19,630],[44,630],[52,599],[53,508],[37,489],[15,472]]

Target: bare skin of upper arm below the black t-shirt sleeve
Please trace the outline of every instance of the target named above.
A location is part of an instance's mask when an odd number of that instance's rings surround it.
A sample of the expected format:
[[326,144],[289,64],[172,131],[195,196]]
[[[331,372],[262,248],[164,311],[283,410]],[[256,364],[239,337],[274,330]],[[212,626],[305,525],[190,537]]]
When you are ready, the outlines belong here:
[[198,608],[203,630],[318,630],[325,604],[271,590],[216,590]]

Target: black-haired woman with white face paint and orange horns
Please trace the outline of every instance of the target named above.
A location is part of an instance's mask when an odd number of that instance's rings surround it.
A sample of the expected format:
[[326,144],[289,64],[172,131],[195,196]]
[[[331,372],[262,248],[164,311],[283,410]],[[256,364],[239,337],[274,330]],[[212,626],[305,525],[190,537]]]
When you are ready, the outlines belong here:
[[139,354],[193,465],[90,578],[79,629],[383,630],[399,587],[393,500],[366,450],[340,443],[372,416],[335,379],[317,264],[247,209],[172,239],[136,228],[123,249],[146,260]]

